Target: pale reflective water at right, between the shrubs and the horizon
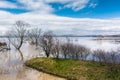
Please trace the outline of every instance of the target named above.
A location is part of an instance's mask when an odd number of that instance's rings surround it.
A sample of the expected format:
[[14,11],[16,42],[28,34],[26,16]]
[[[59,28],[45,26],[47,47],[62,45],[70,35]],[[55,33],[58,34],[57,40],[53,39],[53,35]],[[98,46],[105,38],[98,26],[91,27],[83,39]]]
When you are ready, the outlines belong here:
[[[80,44],[90,48],[91,50],[102,49],[105,51],[117,50],[120,48],[120,38],[116,40],[94,40],[96,37],[74,37],[71,38],[73,43]],[[114,37],[113,37],[114,39]],[[116,39],[116,38],[115,38]]]

